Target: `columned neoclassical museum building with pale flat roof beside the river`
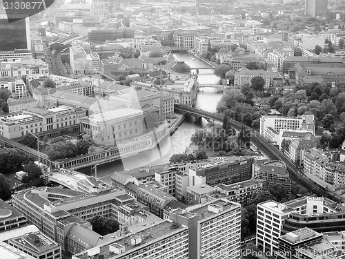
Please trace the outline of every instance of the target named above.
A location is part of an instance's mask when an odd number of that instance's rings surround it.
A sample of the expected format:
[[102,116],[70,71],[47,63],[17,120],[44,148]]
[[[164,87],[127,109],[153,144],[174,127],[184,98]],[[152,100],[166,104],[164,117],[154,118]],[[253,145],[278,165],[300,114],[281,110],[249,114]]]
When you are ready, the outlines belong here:
[[80,118],[80,131],[97,145],[115,145],[144,133],[144,112],[132,108],[108,111]]

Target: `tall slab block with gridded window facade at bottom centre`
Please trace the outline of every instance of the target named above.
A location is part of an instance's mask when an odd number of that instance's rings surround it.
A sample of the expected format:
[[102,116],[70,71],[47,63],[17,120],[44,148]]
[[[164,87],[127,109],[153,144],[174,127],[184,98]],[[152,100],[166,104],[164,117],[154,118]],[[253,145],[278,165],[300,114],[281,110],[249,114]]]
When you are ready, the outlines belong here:
[[188,226],[189,259],[238,259],[241,205],[217,199],[170,212],[170,220]]

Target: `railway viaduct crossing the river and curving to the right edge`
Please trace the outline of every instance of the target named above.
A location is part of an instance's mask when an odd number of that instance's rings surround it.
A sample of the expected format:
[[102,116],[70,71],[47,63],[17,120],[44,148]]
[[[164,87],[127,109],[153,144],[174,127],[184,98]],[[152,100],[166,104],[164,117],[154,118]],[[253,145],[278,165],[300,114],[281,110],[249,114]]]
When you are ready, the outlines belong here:
[[[215,119],[219,122],[222,122],[224,119],[224,115],[219,113],[210,113],[208,111],[203,111],[197,108],[190,108],[188,106],[175,104],[175,113],[182,113],[182,114],[190,114],[195,117],[205,117],[210,119]],[[246,127],[248,131],[250,131],[250,141],[259,148],[262,153],[266,154],[271,160],[281,160],[286,164],[286,169],[290,175],[290,180],[293,180],[295,182],[298,182],[299,184],[302,184],[304,187],[306,187],[309,191],[322,196],[326,198],[330,198],[331,200],[335,200],[336,202],[345,202],[345,198],[338,195],[337,193],[334,193],[332,191],[328,191],[328,189],[325,189],[323,186],[320,186],[313,180],[310,180],[309,178],[306,178],[306,175],[304,175],[303,172],[299,171],[295,164],[288,160],[288,158],[282,153],[282,151],[279,151],[278,148],[270,144],[268,140],[266,140],[262,135],[259,134],[259,132],[255,131],[255,129],[250,128],[241,122],[237,122],[233,119],[228,120],[230,122],[230,125],[233,126],[236,130],[240,130],[242,127]]]

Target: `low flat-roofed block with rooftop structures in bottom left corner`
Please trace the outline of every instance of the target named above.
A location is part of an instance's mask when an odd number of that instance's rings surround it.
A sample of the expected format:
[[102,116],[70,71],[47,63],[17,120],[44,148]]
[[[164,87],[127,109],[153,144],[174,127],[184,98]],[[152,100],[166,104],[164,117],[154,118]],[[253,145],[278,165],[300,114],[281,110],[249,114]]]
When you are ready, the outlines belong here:
[[12,238],[8,244],[36,259],[61,259],[59,244],[39,231]]

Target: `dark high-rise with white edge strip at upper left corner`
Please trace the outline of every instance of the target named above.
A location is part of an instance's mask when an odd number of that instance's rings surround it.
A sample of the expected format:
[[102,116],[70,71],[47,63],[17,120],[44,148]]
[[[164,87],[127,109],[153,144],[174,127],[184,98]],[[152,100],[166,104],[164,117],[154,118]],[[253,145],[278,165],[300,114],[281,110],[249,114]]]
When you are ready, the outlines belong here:
[[12,21],[0,13],[0,35],[6,35],[0,37],[0,51],[31,50],[29,17]]

